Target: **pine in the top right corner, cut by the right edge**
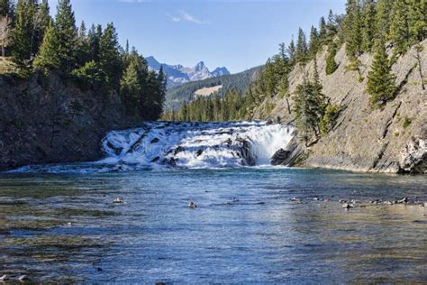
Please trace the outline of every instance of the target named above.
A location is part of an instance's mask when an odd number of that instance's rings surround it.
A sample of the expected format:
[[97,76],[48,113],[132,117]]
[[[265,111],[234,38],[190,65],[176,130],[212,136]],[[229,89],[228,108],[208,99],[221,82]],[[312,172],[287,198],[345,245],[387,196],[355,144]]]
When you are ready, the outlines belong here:
[[410,0],[409,32],[411,44],[427,37],[427,3],[425,0]]

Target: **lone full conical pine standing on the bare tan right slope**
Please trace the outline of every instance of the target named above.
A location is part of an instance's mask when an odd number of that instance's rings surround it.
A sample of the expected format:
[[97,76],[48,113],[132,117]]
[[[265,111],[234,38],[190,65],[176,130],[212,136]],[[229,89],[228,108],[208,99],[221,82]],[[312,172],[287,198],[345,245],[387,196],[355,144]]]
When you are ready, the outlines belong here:
[[374,61],[368,72],[367,91],[373,106],[382,106],[395,97],[395,75],[384,42],[378,41]]

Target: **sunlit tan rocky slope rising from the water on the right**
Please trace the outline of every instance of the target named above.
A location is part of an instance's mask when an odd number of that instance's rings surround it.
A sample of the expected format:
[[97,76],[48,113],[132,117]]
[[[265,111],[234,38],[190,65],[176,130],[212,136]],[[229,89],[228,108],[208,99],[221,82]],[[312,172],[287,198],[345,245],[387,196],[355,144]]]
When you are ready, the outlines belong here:
[[[425,82],[427,41],[422,45],[421,67]],[[325,74],[326,53],[324,49],[317,56],[323,94],[332,104],[344,109],[330,133],[309,147],[301,147],[308,156],[302,165],[336,170],[426,173],[427,91],[422,90],[415,49],[395,62],[393,71],[399,92],[380,109],[369,105],[369,95],[365,91],[372,56],[365,54],[359,58],[362,63],[362,80],[359,81],[359,73],[346,68],[350,62],[344,46],[335,58],[339,68],[329,76]],[[313,74],[313,62],[307,64],[305,70]],[[302,67],[296,67],[291,73],[291,94],[302,83],[303,72]],[[253,118],[280,117],[282,122],[292,121],[293,114],[289,113],[292,107],[292,97],[267,98],[255,110]]]

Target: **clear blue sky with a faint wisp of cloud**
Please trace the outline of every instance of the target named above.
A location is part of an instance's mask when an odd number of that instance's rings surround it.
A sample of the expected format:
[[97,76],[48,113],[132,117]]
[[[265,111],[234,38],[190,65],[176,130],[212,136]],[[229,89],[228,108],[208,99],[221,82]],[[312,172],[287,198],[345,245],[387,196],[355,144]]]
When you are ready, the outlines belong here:
[[[57,0],[50,0],[52,14]],[[77,25],[113,22],[145,57],[232,73],[264,63],[299,26],[308,34],[329,9],[343,13],[345,0],[71,0]]]

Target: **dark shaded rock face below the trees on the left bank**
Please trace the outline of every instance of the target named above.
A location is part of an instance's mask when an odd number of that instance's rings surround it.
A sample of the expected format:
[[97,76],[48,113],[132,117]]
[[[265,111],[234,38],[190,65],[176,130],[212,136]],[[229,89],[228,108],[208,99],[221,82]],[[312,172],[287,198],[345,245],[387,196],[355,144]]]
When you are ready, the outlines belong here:
[[97,160],[108,131],[137,124],[114,92],[82,91],[57,74],[0,77],[0,170]]

